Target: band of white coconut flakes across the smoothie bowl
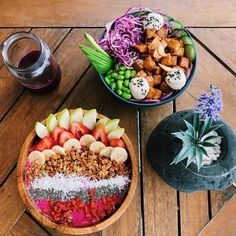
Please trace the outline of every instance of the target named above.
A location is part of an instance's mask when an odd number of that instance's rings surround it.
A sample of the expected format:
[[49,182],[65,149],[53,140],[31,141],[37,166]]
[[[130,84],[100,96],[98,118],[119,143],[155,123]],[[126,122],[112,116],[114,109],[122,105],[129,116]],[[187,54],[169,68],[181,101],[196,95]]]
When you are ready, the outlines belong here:
[[87,176],[70,174],[64,176],[57,173],[53,177],[44,176],[34,179],[31,189],[62,191],[67,194],[71,191],[85,191],[92,188],[110,187],[123,189],[130,182],[128,176],[117,175],[110,179],[90,180]]

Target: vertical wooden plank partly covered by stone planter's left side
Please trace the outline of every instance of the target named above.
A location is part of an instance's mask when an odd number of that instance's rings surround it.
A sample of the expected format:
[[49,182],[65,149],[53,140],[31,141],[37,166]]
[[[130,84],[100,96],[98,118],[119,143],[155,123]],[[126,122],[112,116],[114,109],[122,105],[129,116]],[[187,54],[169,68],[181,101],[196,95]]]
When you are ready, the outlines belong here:
[[176,191],[154,172],[147,156],[147,142],[151,132],[162,119],[172,113],[172,102],[161,107],[141,109],[145,235],[178,235]]

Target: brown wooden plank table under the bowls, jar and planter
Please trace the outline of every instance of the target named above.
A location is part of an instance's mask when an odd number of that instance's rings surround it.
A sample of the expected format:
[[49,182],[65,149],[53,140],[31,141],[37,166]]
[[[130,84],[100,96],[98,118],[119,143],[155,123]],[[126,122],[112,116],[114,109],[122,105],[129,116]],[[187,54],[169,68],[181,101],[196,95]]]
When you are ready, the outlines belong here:
[[[78,48],[85,31],[99,37],[106,22],[138,4],[160,8],[189,26],[198,50],[197,73],[190,87],[161,107],[136,109],[117,101]],[[37,95],[17,83],[0,59],[0,235],[60,235],[40,225],[25,209],[16,185],[16,163],[35,121],[64,107],[97,108],[108,117],[119,117],[140,161],[140,181],[130,207],[97,236],[197,235],[235,189],[180,193],[152,170],[146,146],[151,131],[164,117],[194,107],[197,96],[211,83],[221,87],[222,116],[236,129],[235,1],[1,0],[0,9],[0,43],[13,32],[31,31],[47,42],[63,74],[55,91]],[[209,232],[207,235],[217,235]],[[236,235],[229,232],[227,236]]]

